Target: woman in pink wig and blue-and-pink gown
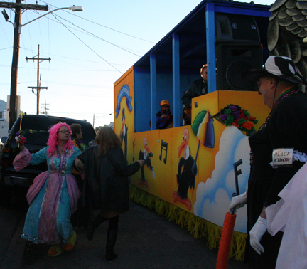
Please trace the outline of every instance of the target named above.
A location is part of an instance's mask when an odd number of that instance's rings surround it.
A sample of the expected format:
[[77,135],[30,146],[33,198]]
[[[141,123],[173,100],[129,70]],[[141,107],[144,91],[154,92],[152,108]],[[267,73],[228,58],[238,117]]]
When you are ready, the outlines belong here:
[[72,176],[72,166],[81,152],[71,141],[71,130],[66,123],[59,122],[48,132],[47,147],[35,154],[23,146],[24,139],[17,137],[21,152],[14,159],[14,167],[19,171],[29,164],[48,164],[48,171],[36,176],[28,190],[30,207],[21,237],[33,243],[54,245],[48,251],[53,257],[63,250],[72,250],[75,245],[76,233],[70,216],[77,209],[80,191]]

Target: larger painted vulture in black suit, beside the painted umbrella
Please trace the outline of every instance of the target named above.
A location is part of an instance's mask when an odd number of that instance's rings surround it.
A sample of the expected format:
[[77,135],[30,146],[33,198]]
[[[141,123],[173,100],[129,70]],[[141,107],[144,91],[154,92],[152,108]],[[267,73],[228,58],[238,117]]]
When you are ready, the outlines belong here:
[[188,146],[189,133],[188,129],[183,130],[183,142],[178,147],[178,157],[180,158],[181,152],[183,157],[179,159],[177,183],[178,191],[173,191],[173,201],[180,201],[185,204],[190,210],[192,203],[188,199],[188,189],[195,188],[195,176],[197,174],[197,166],[192,156],[190,156],[190,147]]

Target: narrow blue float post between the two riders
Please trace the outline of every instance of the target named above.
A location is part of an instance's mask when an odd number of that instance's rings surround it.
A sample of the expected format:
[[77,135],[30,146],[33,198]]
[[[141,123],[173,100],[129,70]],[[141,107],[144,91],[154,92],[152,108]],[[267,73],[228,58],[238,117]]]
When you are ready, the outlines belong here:
[[173,127],[180,126],[181,110],[179,102],[180,95],[180,57],[179,57],[179,36],[177,33],[173,34]]

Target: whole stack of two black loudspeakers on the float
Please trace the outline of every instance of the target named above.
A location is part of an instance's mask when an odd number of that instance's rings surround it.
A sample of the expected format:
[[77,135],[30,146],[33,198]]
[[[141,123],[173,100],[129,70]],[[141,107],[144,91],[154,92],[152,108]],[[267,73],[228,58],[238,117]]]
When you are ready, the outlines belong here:
[[254,17],[215,14],[217,90],[258,90],[242,78],[249,69],[262,68],[262,44]]

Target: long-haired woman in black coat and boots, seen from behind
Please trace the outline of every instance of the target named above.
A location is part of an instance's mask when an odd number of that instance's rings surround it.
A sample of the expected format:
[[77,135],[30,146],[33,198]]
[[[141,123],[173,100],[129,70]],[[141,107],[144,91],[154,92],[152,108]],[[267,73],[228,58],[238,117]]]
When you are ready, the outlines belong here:
[[[129,211],[129,180],[144,161],[127,165],[122,143],[111,127],[99,129],[96,145],[89,147],[75,161],[77,167],[85,166],[82,202],[92,212],[87,224],[87,238],[92,240],[95,228],[109,220],[106,259],[117,258],[114,246],[117,239],[119,214]],[[94,212],[99,211],[95,216]]]

